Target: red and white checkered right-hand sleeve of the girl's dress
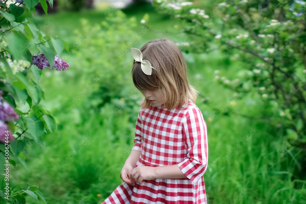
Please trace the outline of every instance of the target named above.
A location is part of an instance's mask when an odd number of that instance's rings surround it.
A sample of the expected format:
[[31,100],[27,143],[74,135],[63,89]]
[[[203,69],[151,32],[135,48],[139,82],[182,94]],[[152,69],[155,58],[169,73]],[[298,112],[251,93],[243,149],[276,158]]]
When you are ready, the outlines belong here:
[[183,118],[183,139],[187,159],[178,164],[181,171],[196,183],[205,173],[208,161],[207,126],[198,108],[191,108]]

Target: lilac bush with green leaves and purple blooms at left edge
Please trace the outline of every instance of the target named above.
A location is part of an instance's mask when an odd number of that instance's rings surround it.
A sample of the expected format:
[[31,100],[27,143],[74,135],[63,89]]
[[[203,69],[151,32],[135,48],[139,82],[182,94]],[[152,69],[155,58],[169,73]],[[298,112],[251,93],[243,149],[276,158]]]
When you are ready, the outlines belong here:
[[[57,134],[53,115],[39,106],[44,92],[38,82],[44,68],[57,71],[69,68],[67,62],[58,58],[69,47],[59,38],[46,36],[30,21],[22,22],[19,18],[24,12],[33,15],[38,2],[47,14],[47,3],[52,7],[53,0],[16,0],[9,5],[7,2],[0,1],[0,171],[3,172],[0,202],[26,203],[27,195],[47,203],[37,185],[28,184],[27,189],[12,191],[16,181],[10,179],[8,169],[23,165],[28,171],[24,147],[30,143],[42,145],[40,137],[46,133]],[[30,79],[28,72],[35,79]],[[28,109],[24,111],[24,107]]]

